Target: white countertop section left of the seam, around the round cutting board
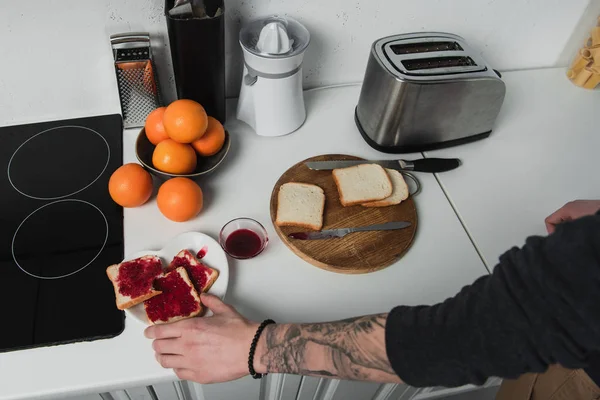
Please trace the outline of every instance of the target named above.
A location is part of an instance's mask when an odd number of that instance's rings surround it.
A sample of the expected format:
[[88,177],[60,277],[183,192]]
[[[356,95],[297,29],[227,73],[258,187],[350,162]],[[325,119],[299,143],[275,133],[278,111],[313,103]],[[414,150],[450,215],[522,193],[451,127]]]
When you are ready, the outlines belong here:
[[[25,90],[23,96],[32,93],[33,89],[31,93]],[[427,174],[419,175],[423,191],[416,197],[419,227],[415,242],[387,269],[368,275],[326,272],[296,257],[278,239],[270,222],[269,199],[287,168],[324,153],[391,158],[368,147],[357,132],[353,112],[358,93],[357,86],[307,92],[308,119],[286,137],[261,138],[232,120],[227,126],[233,143],[227,162],[201,185],[206,201],[202,214],[187,223],[174,223],[159,213],[154,200],[125,210],[125,253],[161,248],[186,231],[216,237],[232,218],[256,218],[269,231],[269,247],[254,260],[231,261],[226,300],[250,318],[271,317],[281,322],[340,319],[386,312],[398,304],[431,304],[485,274],[444,193]],[[98,108],[93,107],[95,102],[88,103],[90,115],[118,109],[114,93],[105,98],[111,99],[109,104]],[[234,107],[230,102],[230,113]],[[47,112],[32,104],[27,114],[0,123],[36,121],[36,115]],[[60,117],[68,115],[63,112]],[[125,162],[135,161],[136,136],[135,130],[125,132]],[[462,174],[462,168],[456,174]],[[114,339],[0,354],[0,399],[66,396],[175,379],[155,362],[150,341],[142,332],[142,325],[127,319],[125,331]]]

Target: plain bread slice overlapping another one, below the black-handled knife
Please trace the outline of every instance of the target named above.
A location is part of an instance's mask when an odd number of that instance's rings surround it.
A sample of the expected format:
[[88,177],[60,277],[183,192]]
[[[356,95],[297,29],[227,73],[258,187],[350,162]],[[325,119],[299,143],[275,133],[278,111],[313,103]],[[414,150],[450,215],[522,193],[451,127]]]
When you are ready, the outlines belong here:
[[391,196],[393,191],[390,177],[377,164],[334,169],[333,179],[344,207],[383,200]]

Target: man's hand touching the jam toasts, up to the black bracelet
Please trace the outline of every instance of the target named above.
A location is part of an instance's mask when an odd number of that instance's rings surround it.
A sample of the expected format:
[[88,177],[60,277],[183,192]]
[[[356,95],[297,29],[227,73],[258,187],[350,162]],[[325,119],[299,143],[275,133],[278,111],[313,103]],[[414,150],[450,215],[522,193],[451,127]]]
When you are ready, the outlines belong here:
[[225,382],[248,375],[248,352],[258,324],[242,317],[218,297],[202,294],[211,317],[154,325],[145,335],[164,368],[179,379],[198,383]]

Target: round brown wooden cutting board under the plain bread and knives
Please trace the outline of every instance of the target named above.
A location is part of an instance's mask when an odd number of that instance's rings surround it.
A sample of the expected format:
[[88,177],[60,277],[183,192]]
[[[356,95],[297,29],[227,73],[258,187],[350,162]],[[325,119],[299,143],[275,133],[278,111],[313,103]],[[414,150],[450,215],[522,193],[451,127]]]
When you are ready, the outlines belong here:
[[[411,246],[417,230],[417,209],[412,196],[396,206],[369,208],[341,205],[331,171],[313,171],[307,161],[361,160],[361,158],[329,154],[312,157],[288,169],[279,178],[271,194],[271,220],[275,231],[294,253],[316,267],[344,274],[364,274],[383,269],[400,259]],[[305,231],[293,226],[277,226],[277,197],[287,182],[312,183],[325,191],[323,229],[353,228],[393,221],[412,225],[395,231],[356,232],[343,238],[296,240],[288,235]],[[408,183],[408,181],[407,181]]]

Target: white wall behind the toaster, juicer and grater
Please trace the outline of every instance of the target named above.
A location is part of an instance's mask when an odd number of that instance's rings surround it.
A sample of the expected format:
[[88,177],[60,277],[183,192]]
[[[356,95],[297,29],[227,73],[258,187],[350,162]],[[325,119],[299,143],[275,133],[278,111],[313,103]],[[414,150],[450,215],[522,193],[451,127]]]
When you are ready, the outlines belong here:
[[[173,98],[163,1],[0,1],[0,120],[17,123],[86,115],[89,110],[118,112],[116,89],[108,97],[105,93],[106,87],[116,87],[108,36],[122,31],[151,32],[160,80]],[[409,31],[463,35],[500,70],[566,65],[600,13],[597,0],[225,0],[225,4],[229,95],[237,93],[240,81],[237,32],[257,16],[289,14],[308,27],[313,41],[306,55],[305,86],[314,87],[360,81],[373,40]],[[48,102],[58,90],[72,96]]]

